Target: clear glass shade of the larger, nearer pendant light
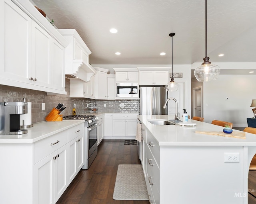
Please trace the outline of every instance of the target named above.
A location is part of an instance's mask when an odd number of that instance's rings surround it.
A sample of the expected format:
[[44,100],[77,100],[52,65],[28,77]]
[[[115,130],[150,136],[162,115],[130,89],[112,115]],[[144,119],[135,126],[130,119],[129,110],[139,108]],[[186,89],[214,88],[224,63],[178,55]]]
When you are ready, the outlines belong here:
[[194,75],[199,82],[215,80],[219,74],[220,67],[212,64],[201,65],[194,71]]

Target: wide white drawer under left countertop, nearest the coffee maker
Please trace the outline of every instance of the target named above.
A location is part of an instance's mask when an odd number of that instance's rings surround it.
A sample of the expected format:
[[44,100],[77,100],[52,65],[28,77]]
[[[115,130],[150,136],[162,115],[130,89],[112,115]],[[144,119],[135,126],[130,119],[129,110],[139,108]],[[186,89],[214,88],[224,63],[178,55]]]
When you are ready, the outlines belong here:
[[34,143],[34,164],[68,143],[68,130],[56,133]]

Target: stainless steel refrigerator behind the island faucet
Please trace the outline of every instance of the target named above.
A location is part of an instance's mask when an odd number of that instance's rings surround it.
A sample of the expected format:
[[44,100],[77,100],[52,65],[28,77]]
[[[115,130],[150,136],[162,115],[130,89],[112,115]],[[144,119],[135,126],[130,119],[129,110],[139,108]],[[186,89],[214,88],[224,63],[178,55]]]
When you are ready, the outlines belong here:
[[140,87],[140,115],[168,115],[168,105],[165,86]]

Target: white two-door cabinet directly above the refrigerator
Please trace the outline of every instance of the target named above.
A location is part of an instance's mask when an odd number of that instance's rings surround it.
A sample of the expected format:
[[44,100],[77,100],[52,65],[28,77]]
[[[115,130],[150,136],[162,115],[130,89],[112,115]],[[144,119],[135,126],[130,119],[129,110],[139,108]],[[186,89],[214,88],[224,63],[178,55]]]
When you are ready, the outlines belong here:
[[140,71],[140,85],[165,85],[168,80],[168,71]]

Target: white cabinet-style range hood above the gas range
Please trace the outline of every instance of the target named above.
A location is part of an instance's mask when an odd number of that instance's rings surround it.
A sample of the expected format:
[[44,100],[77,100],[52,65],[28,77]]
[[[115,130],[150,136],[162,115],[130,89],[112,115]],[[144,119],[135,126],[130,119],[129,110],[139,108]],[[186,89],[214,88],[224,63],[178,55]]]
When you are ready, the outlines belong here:
[[88,82],[96,71],[89,63],[92,53],[75,29],[58,29],[69,45],[65,49],[65,74]]

